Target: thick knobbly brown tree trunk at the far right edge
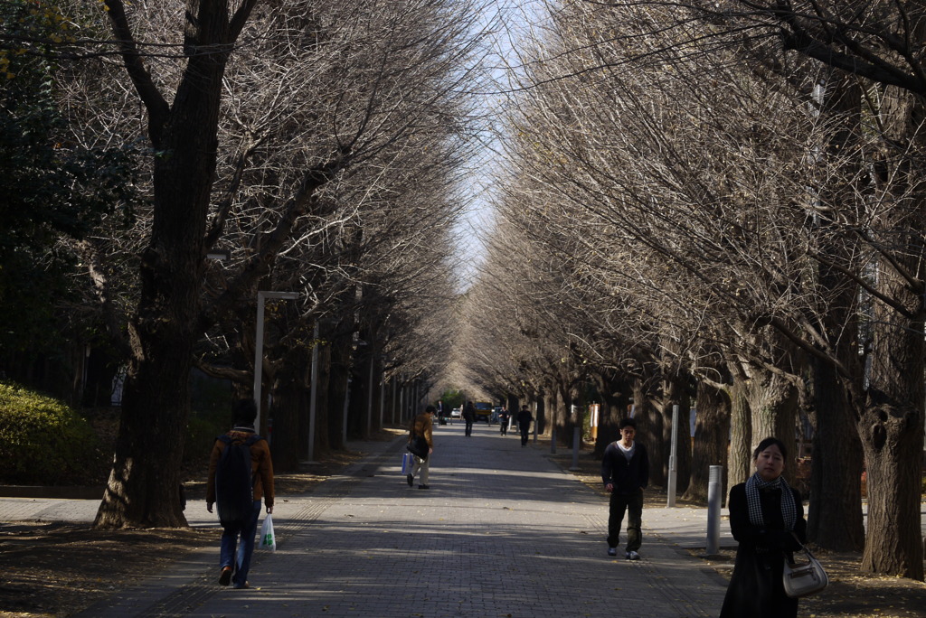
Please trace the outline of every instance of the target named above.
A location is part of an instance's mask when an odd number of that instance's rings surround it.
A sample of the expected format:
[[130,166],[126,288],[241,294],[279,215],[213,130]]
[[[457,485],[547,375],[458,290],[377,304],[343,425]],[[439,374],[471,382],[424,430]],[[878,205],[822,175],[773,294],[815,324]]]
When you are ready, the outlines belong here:
[[[922,11],[915,12],[926,39]],[[870,371],[858,436],[865,451],[869,526],[863,572],[923,578],[920,491],[923,449],[923,278],[926,252],[926,180],[921,167],[926,144],[919,97],[887,88],[882,117],[890,174],[882,200],[894,204],[875,221],[890,242],[891,259],[878,263],[877,287],[894,305],[875,301],[871,320]],[[916,285],[911,284],[911,280]]]

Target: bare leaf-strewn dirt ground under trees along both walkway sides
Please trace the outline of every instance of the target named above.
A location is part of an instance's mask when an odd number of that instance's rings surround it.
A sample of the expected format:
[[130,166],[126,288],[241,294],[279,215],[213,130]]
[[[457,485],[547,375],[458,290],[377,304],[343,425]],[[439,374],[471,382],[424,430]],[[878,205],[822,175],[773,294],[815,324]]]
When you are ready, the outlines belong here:
[[[395,433],[383,432],[378,438],[391,439]],[[309,491],[359,457],[358,452],[332,454],[319,458],[320,465],[312,466],[310,473],[280,475],[277,493]],[[572,464],[570,452],[553,459],[564,469]],[[580,465],[582,471],[572,474],[600,491],[598,461],[583,454]],[[203,485],[202,479],[187,484],[191,499],[201,498]],[[648,492],[647,501],[662,506],[665,494]],[[87,525],[0,523],[0,616],[73,615],[130,586],[141,575],[169,568],[185,552],[218,547],[218,543],[216,529],[94,530]],[[831,584],[823,594],[802,599],[801,616],[926,615],[926,585],[922,582],[857,575],[859,554],[820,551],[817,556],[826,566]],[[729,576],[732,560],[733,552],[725,551],[722,559],[705,563]]]

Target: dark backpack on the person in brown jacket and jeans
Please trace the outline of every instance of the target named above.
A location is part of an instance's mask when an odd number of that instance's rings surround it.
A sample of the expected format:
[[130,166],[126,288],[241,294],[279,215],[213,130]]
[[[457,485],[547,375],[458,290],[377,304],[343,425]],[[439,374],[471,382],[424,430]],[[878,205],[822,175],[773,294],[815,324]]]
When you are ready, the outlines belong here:
[[216,466],[216,506],[223,526],[241,526],[254,512],[254,476],[251,472],[251,445],[257,434],[236,441],[228,435],[219,436],[225,450]]

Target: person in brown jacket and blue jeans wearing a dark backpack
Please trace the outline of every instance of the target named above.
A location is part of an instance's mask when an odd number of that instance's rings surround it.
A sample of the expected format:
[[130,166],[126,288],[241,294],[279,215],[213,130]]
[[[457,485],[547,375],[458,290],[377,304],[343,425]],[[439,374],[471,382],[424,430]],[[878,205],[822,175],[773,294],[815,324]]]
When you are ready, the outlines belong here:
[[[212,505],[219,503],[219,517],[222,518],[222,538],[219,549],[219,584],[228,586],[230,583],[236,588],[250,587],[247,583],[247,572],[251,567],[251,556],[254,554],[254,537],[257,533],[257,519],[260,517],[260,501],[263,499],[267,506],[267,513],[273,513],[273,464],[270,461],[270,449],[267,440],[257,435],[254,421],[257,418],[257,405],[253,400],[244,399],[235,402],[232,406],[234,426],[224,436],[216,439],[209,457],[209,475],[206,483],[206,511],[212,513]],[[220,486],[216,487],[216,476],[223,453],[228,449],[246,448],[241,453],[244,461],[243,474],[247,475],[250,468],[250,483],[252,498],[250,511],[241,518],[225,521],[223,512],[229,508],[228,502],[234,499],[232,490],[222,479]],[[228,457],[234,456],[230,451]],[[247,460],[250,460],[249,462]],[[250,464],[249,466],[247,464]],[[221,473],[227,475],[224,470]],[[248,479],[244,478],[245,488]],[[240,539],[239,539],[240,537]],[[235,548],[237,546],[237,557]]]

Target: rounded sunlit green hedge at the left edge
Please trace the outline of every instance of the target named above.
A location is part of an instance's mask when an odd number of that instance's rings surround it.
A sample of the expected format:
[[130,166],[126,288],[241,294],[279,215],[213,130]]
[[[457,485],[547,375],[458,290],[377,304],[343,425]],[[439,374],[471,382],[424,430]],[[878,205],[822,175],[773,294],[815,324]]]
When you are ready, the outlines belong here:
[[0,483],[81,485],[106,454],[93,428],[66,404],[0,381]]

